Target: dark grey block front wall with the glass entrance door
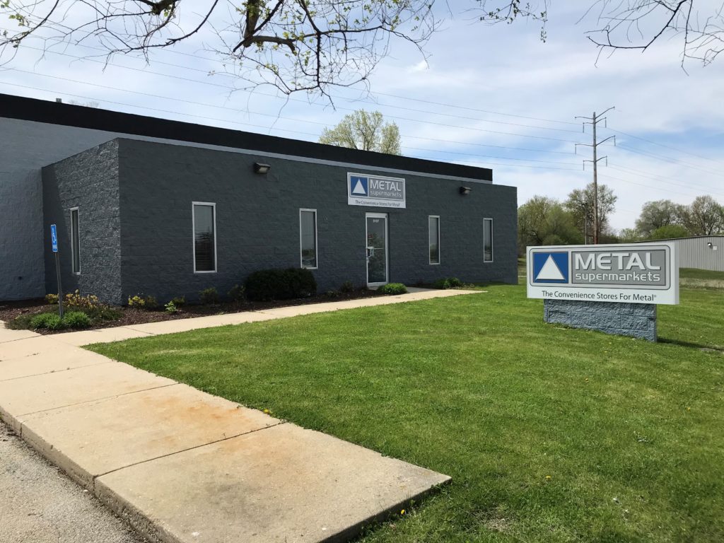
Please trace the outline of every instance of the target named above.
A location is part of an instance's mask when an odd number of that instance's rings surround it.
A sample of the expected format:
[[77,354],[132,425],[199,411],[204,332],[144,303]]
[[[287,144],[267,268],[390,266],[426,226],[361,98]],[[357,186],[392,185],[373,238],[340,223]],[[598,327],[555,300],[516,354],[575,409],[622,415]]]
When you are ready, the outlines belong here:
[[[253,162],[271,164],[253,173]],[[371,169],[356,169],[372,173]],[[224,294],[252,271],[299,267],[299,209],[317,210],[319,290],[366,283],[365,213],[389,214],[390,281],[452,275],[517,281],[515,188],[406,175],[407,209],[347,204],[348,169],[203,148],[119,140],[122,296]],[[192,202],[216,203],[216,274],[193,273]],[[440,216],[442,264],[428,262],[428,215]],[[484,218],[494,219],[494,262],[483,262]]]

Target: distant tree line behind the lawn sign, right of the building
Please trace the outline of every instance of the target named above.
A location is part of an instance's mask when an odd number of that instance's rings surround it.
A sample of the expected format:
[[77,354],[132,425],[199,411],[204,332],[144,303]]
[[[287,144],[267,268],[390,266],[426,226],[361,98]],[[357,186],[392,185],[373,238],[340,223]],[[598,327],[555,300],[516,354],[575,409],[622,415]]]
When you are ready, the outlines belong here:
[[[598,187],[600,243],[631,243],[674,237],[724,234],[724,206],[709,195],[689,205],[670,200],[647,202],[633,228],[618,234],[610,226],[618,197]],[[593,240],[593,184],[573,190],[565,201],[536,195],[518,208],[518,253],[528,245],[576,245]]]

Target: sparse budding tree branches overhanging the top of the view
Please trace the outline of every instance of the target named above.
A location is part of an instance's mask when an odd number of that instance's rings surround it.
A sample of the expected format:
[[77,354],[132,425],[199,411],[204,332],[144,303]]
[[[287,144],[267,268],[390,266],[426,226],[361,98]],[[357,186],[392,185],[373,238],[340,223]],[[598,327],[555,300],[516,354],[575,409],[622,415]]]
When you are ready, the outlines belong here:
[[[466,16],[475,10],[490,23],[536,20],[545,40],[548,2],[469,0],[458,9]],[[702,11],[694,11],[694,0],[591,4],[599,28],[589,39],[602,51],[645,51],[668,35],[683,40],[682,62],[696,58],[708,64],[724,49],[724,11],[714,4],[704,4]],[[391,41],[413,43],[422,52],[439,28],[435,13],[434,0],[0,0],[0,19],[7,17],[14,27],[0,34],[0,54],[12,55],[37,36],[46,48],[83,42],[109,56],[148,58],[153,49],[201,38],[251,86],[329,96],[332,85],[366,82]]]

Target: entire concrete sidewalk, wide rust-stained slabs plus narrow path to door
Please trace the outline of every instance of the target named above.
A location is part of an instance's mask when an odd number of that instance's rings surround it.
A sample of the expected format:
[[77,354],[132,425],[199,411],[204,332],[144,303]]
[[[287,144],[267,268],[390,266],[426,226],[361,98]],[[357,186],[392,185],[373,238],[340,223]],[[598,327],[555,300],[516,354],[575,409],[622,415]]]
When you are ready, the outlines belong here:
[[[353,301],[373,306],[462,292]],[[450,478],[73,345],[349,305],[167,321],[97,336],[0,328],[0,416],[152,541],[349,539]]]

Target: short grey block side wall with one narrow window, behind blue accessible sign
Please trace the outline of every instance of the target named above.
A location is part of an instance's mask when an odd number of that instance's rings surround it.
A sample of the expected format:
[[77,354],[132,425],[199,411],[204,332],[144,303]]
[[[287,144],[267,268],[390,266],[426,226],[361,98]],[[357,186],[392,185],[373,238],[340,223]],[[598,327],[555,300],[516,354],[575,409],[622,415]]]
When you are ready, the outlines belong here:
[[[64,292],[78,289],[121,303],[118,141],[43,168],[43,204],[44,222],[58,227]],[[80,274],[72,271],[70,210],[74,207],[78,208]],[[46,232],[46,246],[49,236]],[[46,251],[45,266],[46,291],[57,292],[50,251]]]

